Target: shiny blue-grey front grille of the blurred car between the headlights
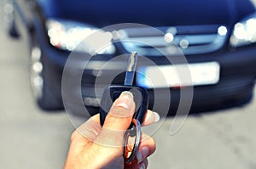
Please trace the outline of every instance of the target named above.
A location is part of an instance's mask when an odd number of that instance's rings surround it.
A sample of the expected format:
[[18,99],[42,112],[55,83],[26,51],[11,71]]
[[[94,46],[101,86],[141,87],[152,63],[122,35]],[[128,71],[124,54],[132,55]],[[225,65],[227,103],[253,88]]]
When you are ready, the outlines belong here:
[[120,43],[126,52],[147,56],[207,54],[224,46],[228,29],[224,25],[137,27],[122,30]]

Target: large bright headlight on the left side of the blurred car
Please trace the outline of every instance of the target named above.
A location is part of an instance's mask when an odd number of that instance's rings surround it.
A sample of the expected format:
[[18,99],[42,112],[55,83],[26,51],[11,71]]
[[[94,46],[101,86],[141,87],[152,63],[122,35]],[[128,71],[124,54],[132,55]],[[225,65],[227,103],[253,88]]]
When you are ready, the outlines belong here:
[[[88,54],[113,54],[112,33],[70,20],[46,21],[49,42],[55,48]],[[91,36],[90,36],[91,35]],[[86,38],[87,37],[87,38]]]

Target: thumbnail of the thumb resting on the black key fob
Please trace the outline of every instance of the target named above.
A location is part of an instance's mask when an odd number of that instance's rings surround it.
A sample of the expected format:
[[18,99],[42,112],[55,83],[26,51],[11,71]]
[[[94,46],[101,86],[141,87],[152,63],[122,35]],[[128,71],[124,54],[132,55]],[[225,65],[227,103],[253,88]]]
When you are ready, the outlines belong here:
[[131,109],[132,102],[133,94],[131,92],[125,91],[120,94],[119,99],[114,105],[118,107],[123,107],[125,109]]

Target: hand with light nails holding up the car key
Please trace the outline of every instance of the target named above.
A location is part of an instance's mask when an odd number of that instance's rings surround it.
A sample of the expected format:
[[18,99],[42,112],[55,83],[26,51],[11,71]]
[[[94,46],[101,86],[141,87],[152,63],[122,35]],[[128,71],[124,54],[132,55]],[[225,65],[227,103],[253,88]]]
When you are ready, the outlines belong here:
[[[131,164],[124,163],[123,139],[131,124],[135,103],[130,92],[121,93],[104,121],[100,115],[90,117],[73,132],[65,169],[80,168],[147,168],[147,157],[154,153],[154,139],[143,133],[137,158]],[[143,125],[159,120],[159,115],[148,110]]]

